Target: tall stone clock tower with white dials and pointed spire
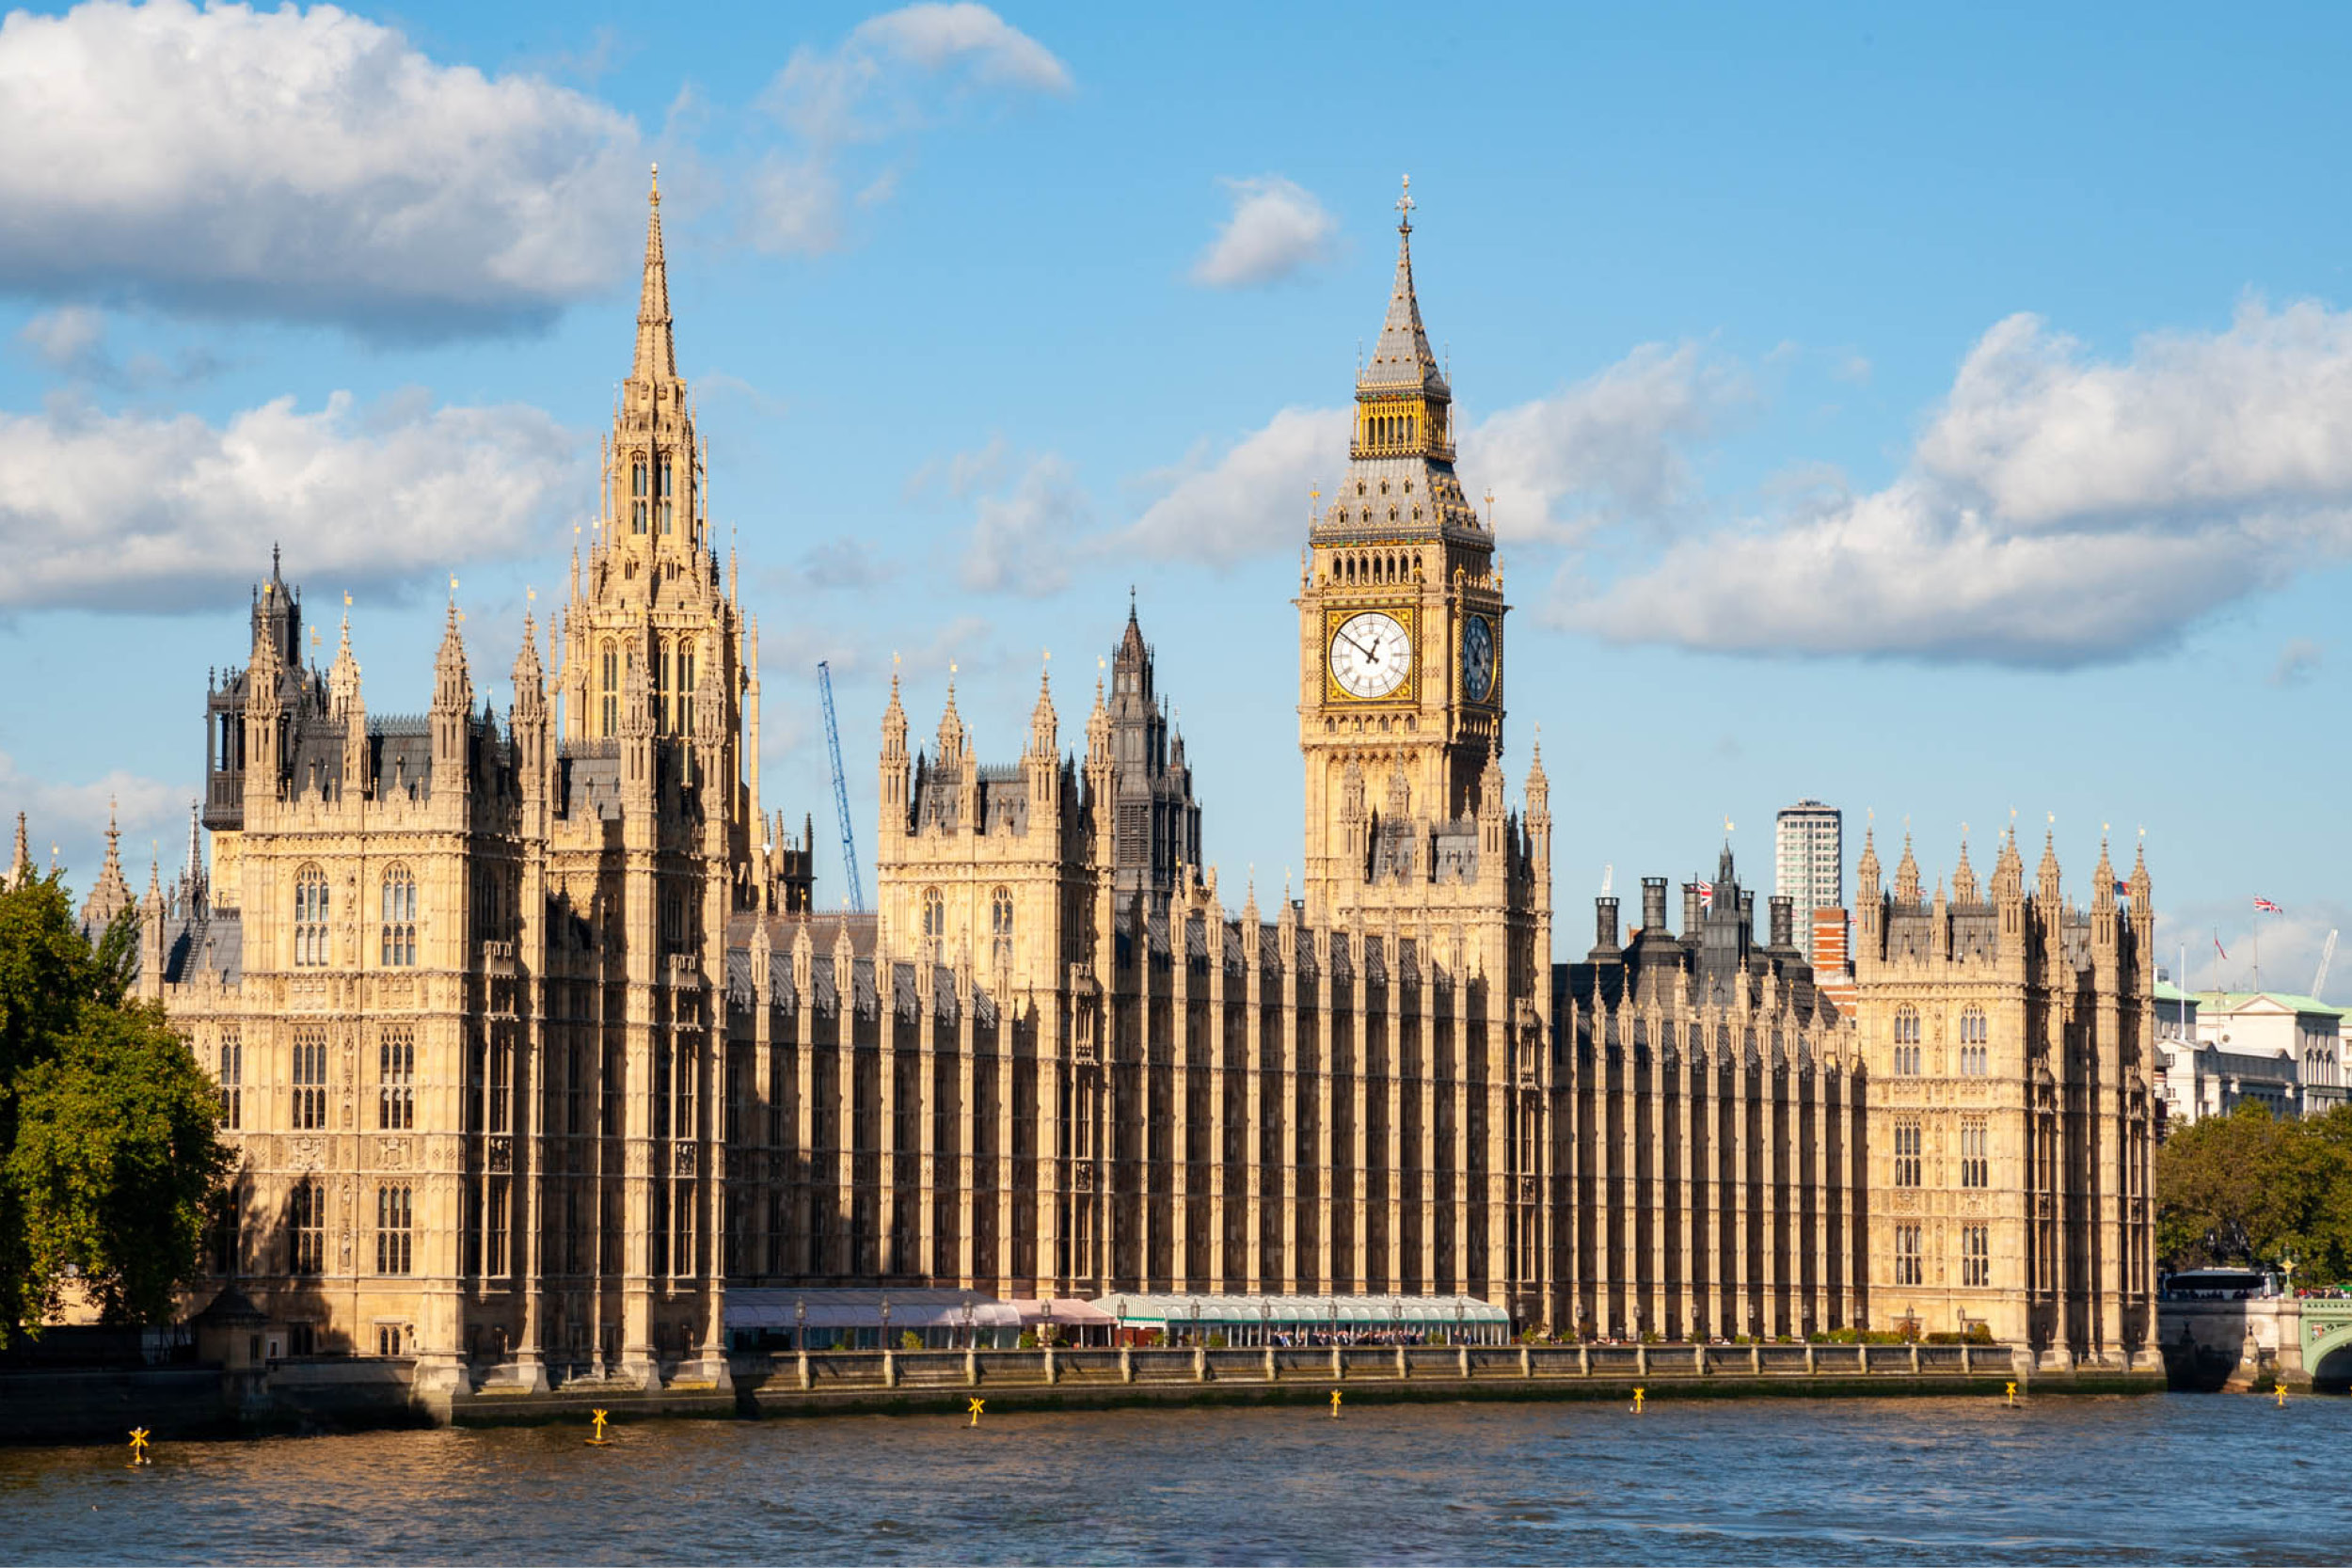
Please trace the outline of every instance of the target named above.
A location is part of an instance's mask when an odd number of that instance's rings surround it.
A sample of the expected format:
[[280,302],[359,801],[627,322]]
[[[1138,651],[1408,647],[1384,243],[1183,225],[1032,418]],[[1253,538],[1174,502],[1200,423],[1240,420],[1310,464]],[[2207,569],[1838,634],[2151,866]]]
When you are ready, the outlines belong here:
[[1444,879],[1454,835],[1451,870],[1475,882],[1489,790],[1501,806],[1508,607],[1494,534],[1454,475],[1454,390],[1414,296],[1411,209],[1406,181],[1348,475],[1308,531],[1298,592],[1310,917],[1425,905],[1414,889]]

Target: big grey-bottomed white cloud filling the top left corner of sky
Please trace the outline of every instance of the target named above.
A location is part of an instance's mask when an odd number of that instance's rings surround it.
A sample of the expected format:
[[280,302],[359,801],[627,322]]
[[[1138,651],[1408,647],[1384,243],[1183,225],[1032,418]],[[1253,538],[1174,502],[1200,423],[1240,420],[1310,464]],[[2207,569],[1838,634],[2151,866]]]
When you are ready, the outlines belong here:
[[0,287],[513,327],[626,273],[633,120],[315,5],[89,0],[0,21]]

